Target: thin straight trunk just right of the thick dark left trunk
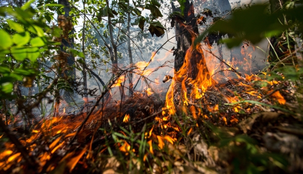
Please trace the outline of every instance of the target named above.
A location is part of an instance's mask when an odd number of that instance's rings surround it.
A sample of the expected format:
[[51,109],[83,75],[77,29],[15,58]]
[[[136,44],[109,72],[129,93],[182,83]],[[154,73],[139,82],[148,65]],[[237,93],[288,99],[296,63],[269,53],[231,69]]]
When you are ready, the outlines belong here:
[[[85,10],[85,0],[83,0],[83,9]],[[82,52],[84,54],[85,51],[85,15],[83,19],[83,28],[82,28]],[[84,54],[84,64],[85,64],[85,54]],[[87,95],[87,79],[86,79],[86,70],[85,65],[82,65],[82,75],[83,75],[83,92],[84,92],[84,102],[88,102],[88,95]]]

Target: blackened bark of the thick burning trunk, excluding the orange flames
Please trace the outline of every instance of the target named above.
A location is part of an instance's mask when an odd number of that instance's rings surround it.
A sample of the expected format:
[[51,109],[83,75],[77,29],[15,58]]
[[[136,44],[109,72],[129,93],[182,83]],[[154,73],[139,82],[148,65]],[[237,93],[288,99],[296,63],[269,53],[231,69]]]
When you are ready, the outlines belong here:
[[[179,8],[176,8],[172,3],[172,10],[173,12],[181,12]],[[174,24],[175,22],[175,24]],[[190,49],[194,39],[199,35],[198,27],[197,27],[197,19],[194,16],[194,8],[193,4],[189,3],[189,0],[185,2],[185,9],[184,9],[184,19],[181,17],[175,16],[172,19],[172,27],[175,26],[176,31],[176,40],[177,40],[177,49],[175,49],[175,72],[179,71],[188,49]],[[190,65],[192,65],[190,72],[188,72],[188,77],[195,78],[199,69],[197,64],[203,60],[205,57],[201,49],[197,51],[196,48],[192,50],[191,58],[190,58]],[[205,65],[206,67],[206,65]],[[207,67],[203,70],[204,73],[209,73]]]

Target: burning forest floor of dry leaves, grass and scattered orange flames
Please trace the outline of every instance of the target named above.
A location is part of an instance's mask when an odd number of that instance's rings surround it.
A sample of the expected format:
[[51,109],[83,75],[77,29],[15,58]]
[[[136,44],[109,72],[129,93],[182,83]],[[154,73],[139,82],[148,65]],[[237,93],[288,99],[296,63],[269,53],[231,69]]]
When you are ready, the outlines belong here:
[[[264,84],[266,82],[266,84]],[[257,76],[217,84],[175,114],[159,94],[135,93],[87,115],[60,113],[16,136],[30,163],[5,135],[5,173],[301,173],[302,93],[292,81]],[[189,93],[190,94],[190,91]],[[188,95],[187,94],[187,95]],[[190,97],[189,95],[187,96]],[[182,101],[182,102],[180,102]],[[91,109],[91,108],[90,108]],[[121,113],[121,114],[119,114]],[[21,129],[21,130],[20,130]],[[75,139],[73,139],[75,138]]]

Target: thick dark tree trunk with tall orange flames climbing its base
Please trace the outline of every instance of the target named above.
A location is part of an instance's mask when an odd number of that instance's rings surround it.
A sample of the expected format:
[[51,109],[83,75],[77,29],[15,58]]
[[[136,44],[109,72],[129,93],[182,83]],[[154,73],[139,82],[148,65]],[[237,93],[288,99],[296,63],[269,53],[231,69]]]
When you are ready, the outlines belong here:
[[[172,4],[172,9],[174,16],[171,24],[175,25],[176,29],[177,49],[174,52],[176,55],[175,76],[166,95],[166,107],[171,115],[176,112],[174,103],[186,112],[185,105],[188,105],[190,101],[201,99],[207,88],[214,84],[201,44],[197,43],[196,46],[193,44],[199,34],[193,4],[188,0],[185,2],[184,18],[174,13],[180,12],[174,4]],[[174,97],[177,95],[180,96]],[[181,101],[176,101],[177,98]]]

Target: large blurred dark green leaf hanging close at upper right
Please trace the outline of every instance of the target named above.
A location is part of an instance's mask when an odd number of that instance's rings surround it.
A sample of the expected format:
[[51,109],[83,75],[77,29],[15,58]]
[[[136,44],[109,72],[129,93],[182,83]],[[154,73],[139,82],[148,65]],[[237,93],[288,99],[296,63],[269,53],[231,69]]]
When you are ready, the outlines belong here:
[[[232,13],[231,19],[217,21],[201,34],[195,40],[195,43],[204,39],[208,32],[220,31],[224,33],[223,35],[229,34],[233,36],[223,40],[229,48],[240,45],[242,40],[250,40],[255,44],[267,36],[282,33],[283,30],[294,26],[296,22],[302,22],[302,11],[303,7],[298,6],[269,15],[267,5],[255,5],[245,10],[237,10]],[[292,17],[294,19],[293,22],[282,24],[279,19],[284,19],[283,15]]]

